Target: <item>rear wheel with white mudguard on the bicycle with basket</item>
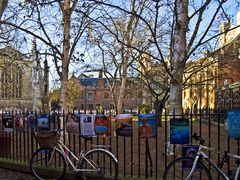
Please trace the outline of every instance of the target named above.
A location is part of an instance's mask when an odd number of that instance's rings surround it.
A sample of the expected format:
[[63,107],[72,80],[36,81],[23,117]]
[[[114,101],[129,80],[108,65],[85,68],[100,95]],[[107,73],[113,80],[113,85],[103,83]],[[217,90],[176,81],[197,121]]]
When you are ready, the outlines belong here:
[[110,176],[117,179],[118,161],[112,153],[104,149],[93,149],[87,152],[85,157],[79,164],[83,178],[96,176],[104,179]]

